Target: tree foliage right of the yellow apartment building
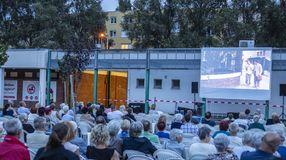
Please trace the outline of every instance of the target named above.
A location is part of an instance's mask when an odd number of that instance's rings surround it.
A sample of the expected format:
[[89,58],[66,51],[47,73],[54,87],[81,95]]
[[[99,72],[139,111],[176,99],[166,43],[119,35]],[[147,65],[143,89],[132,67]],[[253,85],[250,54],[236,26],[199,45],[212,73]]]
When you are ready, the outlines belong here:
[[135,48],[286,47],[285,1],[135,0],[122,24]]

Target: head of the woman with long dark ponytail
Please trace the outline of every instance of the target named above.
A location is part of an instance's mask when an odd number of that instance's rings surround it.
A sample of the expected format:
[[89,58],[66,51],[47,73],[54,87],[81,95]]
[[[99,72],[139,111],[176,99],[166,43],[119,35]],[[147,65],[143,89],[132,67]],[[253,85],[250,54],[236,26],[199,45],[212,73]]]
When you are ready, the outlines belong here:
[[68,126],[64,123],[57,123],[52,130],[46,149],[56,148],[65,142],[68,133]]

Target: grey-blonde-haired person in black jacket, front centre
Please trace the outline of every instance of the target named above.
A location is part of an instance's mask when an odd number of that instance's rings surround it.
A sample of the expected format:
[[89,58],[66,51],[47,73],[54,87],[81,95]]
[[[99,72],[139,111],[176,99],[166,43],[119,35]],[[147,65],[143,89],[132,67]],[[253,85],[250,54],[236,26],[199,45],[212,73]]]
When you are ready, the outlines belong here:
[[143,130],[141,122],[133,122],[130,126],[129,136],[123,139],[123,152],[125,150],[136,150],[145,154],[151,154],[157,150],[155,146],[146,138],[140,137]]

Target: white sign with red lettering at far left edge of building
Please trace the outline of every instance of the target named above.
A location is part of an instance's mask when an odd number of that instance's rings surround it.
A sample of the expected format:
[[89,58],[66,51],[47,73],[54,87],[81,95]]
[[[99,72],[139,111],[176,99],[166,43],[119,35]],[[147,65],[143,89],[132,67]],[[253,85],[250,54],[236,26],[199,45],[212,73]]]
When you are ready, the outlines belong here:
[[17,100],[17,80],[4,81],[4,100]]

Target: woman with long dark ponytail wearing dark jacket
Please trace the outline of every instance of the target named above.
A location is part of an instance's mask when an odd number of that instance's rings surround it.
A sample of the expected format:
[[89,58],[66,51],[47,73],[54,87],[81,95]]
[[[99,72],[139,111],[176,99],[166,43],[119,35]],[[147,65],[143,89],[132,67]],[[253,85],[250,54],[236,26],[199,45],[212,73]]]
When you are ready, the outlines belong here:
[[79,160],[79,157],[64,148],[68,126],[58,123],[53,127],[52,134],[46,147],[40,148],[35,156],[35,160]]

